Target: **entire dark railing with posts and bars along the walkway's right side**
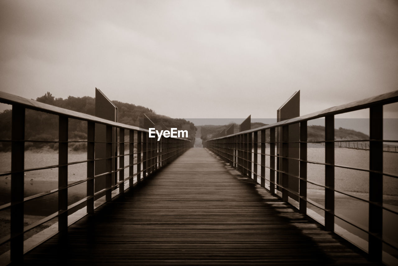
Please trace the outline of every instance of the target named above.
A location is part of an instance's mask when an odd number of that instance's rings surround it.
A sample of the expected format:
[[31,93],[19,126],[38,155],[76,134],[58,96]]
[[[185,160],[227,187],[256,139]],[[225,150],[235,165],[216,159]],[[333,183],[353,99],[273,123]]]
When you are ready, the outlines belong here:
[[[383,176],[398,178],[396,174],[386,173],[383,171],[383,143],[398,142],[397,140],[383,140],[383,105],[398,101],[398,91],[378,95],[365,100],[359,100],[332,107],[320,112],[300,116],[297,118],[284,120],[275,124],[269,124],[260,128],[246,130],[228,136],[207,140],[205,147],[217,154],[222,160],[230,164],[230,166],[239,170],[243,175],[252,178],[257,182],[258,175],[261,177],[261,187],[265,187],[265,180],[269,182],[269,190],[276,193],[281,192],[283,201],[288,202],[289,197],[294,195],[298,198],[298,209],[300,213],[307,214],[307,203],[324,211],[324,228],[327,231],[335,231],[335,218],[356,227],[365,232],[369,236],[368,253],[369,258],[376,261],[382,260],[383,244],[398,250],[398,246],[394,241],[389,242],[382,237],[383,227],[383,210],[398,215],[398,212],[383,205]],[[355,140],[356,142],[369,142],[367,150],[369,150],[369,169],[358,167],[341,166],[335,164],[335,147],[345,140],[335,140],[334,136],[334,116],[355,110],[369,108],[370,114],[370,138],[368,140]],[[313,162],[307,160],[307,144],[320,143],[307,141],[307,122],[316,118],[325,118],[325,140],[324,143],[325,162]],[[299,124],[300,141],[289,142],[289,125]],[[275,138],[275,130],[281,129],[281,141]],[[266,141],[266,133],[269,134],[269,141]],[[258,143],[258,134],[261,134],[261,141]],[[289,144],[296,143],[299,146],[299,158],[289,157]],[[265,147],[269,146],[269,154],[265,153]],[[275,154],[276,145],[280,145],[281,154]],[[313,144],[311,144],[313,145]],[[258,146],[261,152],[258,153]],[[258,162],[258,155],[260,162]],[[269,167],[265,165],[265,156],[269,156]],[[253,158],[253,159],[252,159]],[[275,167],[275,162],[281,161],[281,168]],[[299,174],[289,172],[288,160],[296,160],[299,162]],[[307,180],[307,164],[318,164],[325,167],[325,183],[324,185]],[[252,169],[252,165],[254,166]],[[261,172],[258,173],[258,166]],[[369,200],[362,197],[356,197],[350,193],[335,189],[335,167],[354,169],[369,173]],[[269,179],[265,178],[265,169],[269,169]],[[275,174],[279,174],[279,182],[275,182]],[[298,191],[289,188],[289,178],[296,178],[299,182]],[[307,197],[307,183],[322,187],[324,189],[324,207],[319,203]],[[278,194],[279,194],[278,192]],[[363,228],[335,213],[335,192],[345,196],[352,197],[356,200],[363,201],[369,205],[369,229]],[[289,195],[290,194],[290,195]],[[398,219],[397,219],[398,220]],[[395,221],[394,224],[397,224]]]

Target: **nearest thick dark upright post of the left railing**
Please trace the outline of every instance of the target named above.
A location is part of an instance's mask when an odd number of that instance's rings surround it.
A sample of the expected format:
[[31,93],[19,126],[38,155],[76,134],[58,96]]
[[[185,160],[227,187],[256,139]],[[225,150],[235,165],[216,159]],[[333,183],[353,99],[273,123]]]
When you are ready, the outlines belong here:
[[12,106],[10,259],[23,261],[23,190],[25,169],[25,107]]

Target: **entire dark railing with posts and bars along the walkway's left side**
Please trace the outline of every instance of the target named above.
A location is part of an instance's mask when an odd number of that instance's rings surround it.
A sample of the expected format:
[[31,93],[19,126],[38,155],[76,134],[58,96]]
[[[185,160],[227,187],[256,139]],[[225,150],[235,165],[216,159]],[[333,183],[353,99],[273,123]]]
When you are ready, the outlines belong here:
[[[85,205],[87,207],[87,212],[85,214],[94,213],[94,200],[98,199],[98,197],[105,194],[105,202],[111,201],[112,191],[119,188],[118,194],[123,194],[127,186],[131,187],[135,184],[134,178],[137,179],[136,183],[139,183],[141,179],[148,177],[160,167],[170,163],[191,147],[189,140],[182,138],[164,138],[162,136],[161,140],[157,141],[157,138],[156,140],[155,138],[149,138],[148,130],[142,128],[112,122],[4,92],[0,92],[0,102],[12,105],[11,140],[0,140],[0,142],[11,142],[11,171],[0,173],[0,176],[11,175],[11,201],[0,206],[0,211],[10,209],[10,234],[0,238],[0,246],[10,242],[11,262],[20,262],[22,260],[23,234],[27,231],[56,217],[58,218],[58,232],[66,231],[68,227],[68,215],[72,213],[76,207]],[[58,164],[29,169],[25,168],[25,142],[32,142],[32,140],[25,140],[26,109],[37,110],[58,116],[59,139],[58,141],[54,141],[59,144]],[[68,140],[68,120],[70,118],[87,122],[87,141]],[[96,124],[106,126],[105,142],[98,142],[95,140]],[[119,131],[119,141],[112,142],[113,128],[117,128]],[[125,142],[126,130],[129,136],[128,142]],[[33,142],[49,141],[34,140]],[[84,142],[87,144],[87,160],[68,162],[68,144],[74,142]],[[96,143],[105,143],[105,158],[94,157],[94,146]],[[125,144],[129,145],[129,153],[127,154],[125,154]],[[114,156],[112,156],[112,145],[119,145],[118,155],[114,154]],[[137,147],[136,152],[135,146]],[[129,164],[126,166],[124,165],[125,156],[129,158]],[[136,162],[134,162],[135,157],[137,158]],[[117,159],[119,159],[118,167],[112,167],[112,160]],[[87,172],[84,173],[86,178],[81,181],[68,183],[68,166],[80,163],[87,163]],[[105,164],[105,173],[94,175],[94,164],[96,163]],[[58,168],[58,188],[24,197],[25,172],[51,168]],[[134,171],[135,168],[136,171]],[[127,178],[125,178],[125,170],[129,171]],[[119,179],[112,181],[112,175],[117,173],[119,174]],[[103,176],[105,176],[105,188],[100,191],[95,191],[94,180]],[[129,183],[125,187],[125,182],[127,181]],[[86,197],[68,205],[68,189],[82,183],[87,183]],[[58,193],[58,211],[31,225],[24,226],[24,203],[53,193]]]

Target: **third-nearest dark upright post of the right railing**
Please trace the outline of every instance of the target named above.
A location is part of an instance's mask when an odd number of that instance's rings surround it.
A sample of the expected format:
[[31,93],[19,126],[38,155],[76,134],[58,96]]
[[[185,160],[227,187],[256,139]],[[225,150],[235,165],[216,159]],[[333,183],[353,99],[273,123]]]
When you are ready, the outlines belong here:
[[[307,197],[307,121],[300,122],[300,196]],[[304,179],[304,180],[303,180]],[[306,199],[299,199],[300,213],[307,214]]]

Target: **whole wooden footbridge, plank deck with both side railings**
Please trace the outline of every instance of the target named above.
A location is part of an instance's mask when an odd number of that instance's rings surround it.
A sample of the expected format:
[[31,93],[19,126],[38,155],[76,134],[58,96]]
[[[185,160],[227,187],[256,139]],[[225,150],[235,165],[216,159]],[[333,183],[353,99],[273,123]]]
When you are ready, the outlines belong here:
[[[8,261],[3,260],[5,264],[376,265],[393,257],[385,251],[385,246],[396,246],[382,234],[382,212],[397,213],[382,204],[382,176],[397,176],[383,172],[382,143],[389,140],[383,140],[380,130],[382,106],[397,102],[398,91],[220,137],[208,141],[207,148],[191,148],[189,140],[178,138],[162,138],[158,142],[148,138],[148,130],[142,128],[7,93],[0,93],[0,101],[13,105],[12,138],[2,140],[12,143],[11,171],[1,173],[10,175],[12,182],[11,201],[0,206],[0,210],[11,210],[10,234],[0,239],[0,244],[10,246],[8,255],[1,255],[8,256]],[[26,108],[59,116],[58,165],[25,169],[23,144],[29,141],[24,138]],[[343,192],[334,187],[334,167],[347,166],[334,164],[334,142],[339,140],[334,139],[332,120],[335,114],[363,108],[370,108],[371,135],[369,140],[359,141],[369,142],[370,165],[369,169],[356,170],[369,173],[371,188],[369,200],[360,198],[369,204],[369,228],[352,223],[369,236],[368,246],[358,248],[336,234],[334,227],[335,217],[344,219],[334,213],[332,194]],[[326,118],[325,184],[320,184],[325,190],[324,206],[306,197],[306,184],[311,182],[306,180],[305,165],[314,163],[306,158],[306,121],[319,117]],[[85,161],[68,161],[68,143],[74,142],[68,139],[68,119],[87,122]],[[293,123],[300,124],[298,192],[289,187],[285,161],[289,159],[285,134],[287,126]],[[103,147],[107,156],[103,159],[95,157],[96,124],[106,128]],[[285,128],[282,154],[275,154],[278,127]],[[113,141],[111,134],[115,128],[119,138]],[[117,154],[112,154],[112,144],[117,144]],[[129,144],[127,153],[125,144]],[[265,153],[266,144],[271,147],[270,154]],[[129,158],[128,165],[123,160],[125,156]],[[265,156],[270,157],[268,165]],[[284,163],[281,169],[275,167],[278,158]],[[114,168],[115,162],[118,164]],[[68,182],[68,166],[79,163],[87,164],[86,178]],[[98,163],[104,164],[104,173],[94,172],[94,164]],[[49,167],[59,168],[58,188],[24,197],[24,173]],[[268,189],[266,170],[270,173]],[[279,183],[275,181],[277,172],[281,173]],[[94,181],[100,177],[105,179],[105,187],[98,190]],[[82,183],[87,184],[86,197],[68,202],[68,188]],[[58,194],[58,211],[32,225],[24,225],[24,203],[53,193]],[[289,204],[291,195],[298,198],[296,207]],[[307,203],[324,211],[324,224],[306,215]],[[58,219],[54,233],[36,244],[24,240],[25,233],[54,218]]]

